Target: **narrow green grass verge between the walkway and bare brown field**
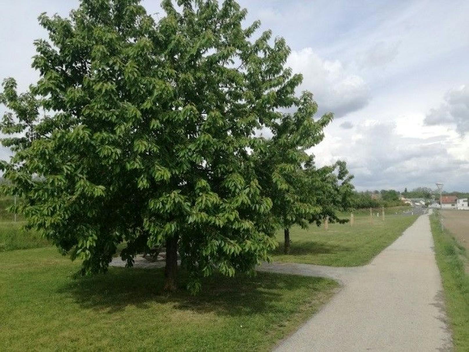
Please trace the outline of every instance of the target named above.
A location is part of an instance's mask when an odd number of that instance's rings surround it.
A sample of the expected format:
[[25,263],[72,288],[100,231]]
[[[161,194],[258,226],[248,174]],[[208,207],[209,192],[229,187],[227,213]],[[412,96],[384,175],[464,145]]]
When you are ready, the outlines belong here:
[[435,255],[445,292],[446,312],[453,330],[457,351],[467,351],[469,346],[469,275],[464,270],[463,257],[467,253],[454,237],[441,230],[438,213],[431,215],[431,232]]

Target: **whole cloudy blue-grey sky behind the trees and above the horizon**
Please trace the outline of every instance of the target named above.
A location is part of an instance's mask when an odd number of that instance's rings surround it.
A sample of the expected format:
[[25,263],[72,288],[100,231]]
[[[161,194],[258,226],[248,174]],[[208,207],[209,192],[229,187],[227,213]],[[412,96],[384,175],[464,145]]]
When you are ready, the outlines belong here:
[[[284,37],[318,117],[334,112],[318,165],[345,160],[358,190],[435,187],[469,192],[469,1],[239,0],[246,25]],[[162,15],[159,1],[142,1]],[[0,0],[0,80],[25,89],[41,12],[77,0]],[[0,157],[8,157],[1,149]]]

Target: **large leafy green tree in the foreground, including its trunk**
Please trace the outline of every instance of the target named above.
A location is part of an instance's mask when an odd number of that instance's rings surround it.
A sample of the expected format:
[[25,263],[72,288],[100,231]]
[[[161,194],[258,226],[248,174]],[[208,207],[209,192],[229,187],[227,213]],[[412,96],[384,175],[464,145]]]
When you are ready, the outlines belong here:
[[[3,82],[1,123],[14,151],[4,191],[28,226],[82,274],[106,271],[119,243],[166,246],[166,289],[178,254],[189,289],[218,271],[250,271],[275,247],[272,200],[258,156],[282,109],[311,116],[284,39],[243,28],[233,0],[164,0],[156,21],[139,0],[82,0],[68,18],[39,17],[40,78],[23,94]],[[307,122],[309,123],[309,122]],[[305,133],[307,129],[305,130]],[[275,132],[276,133],[276,132]]]

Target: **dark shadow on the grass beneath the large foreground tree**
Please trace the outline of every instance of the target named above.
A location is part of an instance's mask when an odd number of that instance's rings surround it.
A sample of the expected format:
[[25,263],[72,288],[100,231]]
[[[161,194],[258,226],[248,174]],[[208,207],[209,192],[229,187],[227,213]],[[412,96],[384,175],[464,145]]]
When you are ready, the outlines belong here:
[[107,274],[73,280],[60,289],[71,295],[83,308],[109,314],[127,306],[141,309],[154,304],[172,304],[179,310],[218,315],[246,316],[274,313],[285,300],[285,292],[321,286],[325,279],[295,277],[271,273],[257,273],[254,277],[234,278],[215,276],[205,279],[202,292],[191,296],[181,287],[173,294],[162,294],[162,269],[111,268]]

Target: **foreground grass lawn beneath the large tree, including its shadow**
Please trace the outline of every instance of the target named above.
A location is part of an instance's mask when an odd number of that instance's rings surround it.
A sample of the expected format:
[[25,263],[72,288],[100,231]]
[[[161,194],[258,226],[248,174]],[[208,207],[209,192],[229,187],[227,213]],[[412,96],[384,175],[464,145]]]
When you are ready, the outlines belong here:
[[267,351],[335,292],[329,279],[258,273],[161,295],[162,270],[79,263],[52,247],[0,253],[0,350]]

